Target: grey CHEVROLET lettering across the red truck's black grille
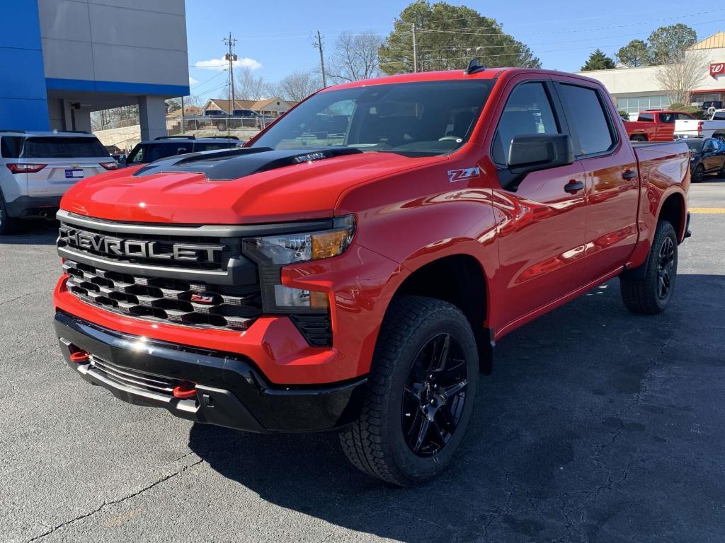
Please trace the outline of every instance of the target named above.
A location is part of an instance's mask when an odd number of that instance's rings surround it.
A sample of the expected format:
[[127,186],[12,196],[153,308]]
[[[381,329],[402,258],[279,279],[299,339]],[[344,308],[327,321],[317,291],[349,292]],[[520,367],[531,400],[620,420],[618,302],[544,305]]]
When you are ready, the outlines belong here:
[[163,249],[161,244],[156,241],[109,237],[78,230],[65,224],[60,227],[58,240],[71,247],[96,251],[109,256],[157,258],[167,261],[217,262],[224,251],[224,245],[199,245],[196,243],[165,243],[166,248]]

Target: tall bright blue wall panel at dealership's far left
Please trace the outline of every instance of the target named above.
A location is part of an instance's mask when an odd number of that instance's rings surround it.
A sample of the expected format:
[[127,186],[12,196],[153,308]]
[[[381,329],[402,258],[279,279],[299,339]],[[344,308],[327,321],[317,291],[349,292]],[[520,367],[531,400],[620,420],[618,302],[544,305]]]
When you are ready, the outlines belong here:
[[48,130],[37,0],[0,6],[0,127]]

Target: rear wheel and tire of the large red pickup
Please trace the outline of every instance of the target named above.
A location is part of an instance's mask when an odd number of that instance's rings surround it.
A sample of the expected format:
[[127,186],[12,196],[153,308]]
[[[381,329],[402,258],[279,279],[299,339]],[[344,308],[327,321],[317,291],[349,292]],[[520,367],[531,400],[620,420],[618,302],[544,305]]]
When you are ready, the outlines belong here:
[[642,279],[619,277],[622,300],[632,313],[656,315],[672,299],[677,279],[677,235],[672,224],[660,221]]

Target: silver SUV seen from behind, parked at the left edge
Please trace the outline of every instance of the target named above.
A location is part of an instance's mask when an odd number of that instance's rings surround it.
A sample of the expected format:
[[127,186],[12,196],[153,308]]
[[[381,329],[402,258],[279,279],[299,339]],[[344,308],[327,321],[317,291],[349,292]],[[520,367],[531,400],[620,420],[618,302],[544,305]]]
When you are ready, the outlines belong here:
[[21,217],[52,216],[72,185],[117,167],[88,132],[0,130],[0,235]]

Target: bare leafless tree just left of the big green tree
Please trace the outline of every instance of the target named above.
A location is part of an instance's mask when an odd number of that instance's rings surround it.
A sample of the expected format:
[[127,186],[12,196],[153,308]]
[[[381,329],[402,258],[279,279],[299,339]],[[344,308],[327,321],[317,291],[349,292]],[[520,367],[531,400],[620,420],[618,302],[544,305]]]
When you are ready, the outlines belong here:
[[382,44],[383,38],[374,32],[342,33],[335,42],[328,75],[339,83],[380,75],[378,49]]

